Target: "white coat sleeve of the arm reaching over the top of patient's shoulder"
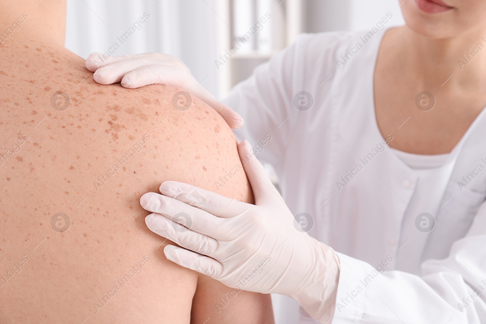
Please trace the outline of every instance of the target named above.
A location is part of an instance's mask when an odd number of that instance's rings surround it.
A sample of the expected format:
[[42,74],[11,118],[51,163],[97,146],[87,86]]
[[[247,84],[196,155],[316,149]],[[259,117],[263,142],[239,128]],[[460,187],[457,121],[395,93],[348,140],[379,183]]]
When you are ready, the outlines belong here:
[[273,165],[282,161],[295,122],[289,105],[294,54],[295,45],[278,52],[223,100],[244,119],[243,127],[234,130],[238,140],[247,139],[260,161]]

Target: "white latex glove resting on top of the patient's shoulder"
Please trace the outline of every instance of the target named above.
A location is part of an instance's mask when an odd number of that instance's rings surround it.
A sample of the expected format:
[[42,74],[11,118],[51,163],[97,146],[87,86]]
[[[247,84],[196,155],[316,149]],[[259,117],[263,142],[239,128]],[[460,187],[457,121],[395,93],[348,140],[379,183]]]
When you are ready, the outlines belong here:
[[94,81],[102,85],[121,82],[130,89],[153,84],[179,87],[206,102],[229,127],[243,126],[243,118],[199,85],[189,68],[175,56],[161,53],[106,56],[94,52],[89,54],[86,68],[94,72]]

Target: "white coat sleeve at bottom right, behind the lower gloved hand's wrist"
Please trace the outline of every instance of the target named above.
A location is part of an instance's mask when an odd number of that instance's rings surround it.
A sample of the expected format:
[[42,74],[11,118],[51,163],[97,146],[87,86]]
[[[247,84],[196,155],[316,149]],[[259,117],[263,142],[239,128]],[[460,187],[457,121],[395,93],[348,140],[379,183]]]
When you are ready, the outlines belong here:
[[422,264],[421,277],[338,256],[333,324],[486,323],[486,204],[447,258]]

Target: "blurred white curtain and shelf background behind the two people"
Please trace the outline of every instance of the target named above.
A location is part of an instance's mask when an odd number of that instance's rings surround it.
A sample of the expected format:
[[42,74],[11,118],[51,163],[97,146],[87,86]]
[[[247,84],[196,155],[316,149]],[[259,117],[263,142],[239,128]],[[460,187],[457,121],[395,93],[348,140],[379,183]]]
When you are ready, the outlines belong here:
[[[66,47],[83,58],[169,53],[222,99],[298,34],[365,31],[388,12],[387,27],[403,24],[398,0],[68,0]],[[272,300],[277,324],[298,322],[295,300]]]

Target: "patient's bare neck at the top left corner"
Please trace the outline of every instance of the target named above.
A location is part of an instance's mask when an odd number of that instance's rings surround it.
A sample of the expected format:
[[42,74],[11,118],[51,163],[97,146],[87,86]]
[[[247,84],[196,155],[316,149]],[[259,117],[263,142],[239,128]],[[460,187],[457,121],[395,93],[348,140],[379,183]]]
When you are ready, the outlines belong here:
[[64,47],[66,0],[0,0],[0,7],[2,46],[41,39]]

